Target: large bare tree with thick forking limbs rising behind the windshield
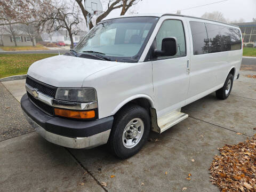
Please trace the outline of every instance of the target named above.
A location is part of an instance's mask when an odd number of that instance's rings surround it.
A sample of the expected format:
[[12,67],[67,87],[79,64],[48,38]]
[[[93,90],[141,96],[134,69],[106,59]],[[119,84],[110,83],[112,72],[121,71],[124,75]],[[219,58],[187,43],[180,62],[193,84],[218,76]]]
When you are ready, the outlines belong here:
[[[107,9],[101,15],[99,15],[99,17],[96,19],[96,23],[98,23],[102,19],[106,18],[107,15],[111,11],[116,10],[116,9],[122,8],[120,15],[124,15],[130,9],[131,6],[139,3],[139,1],[142,1],[142,0],[107,0],[107,1],[105,1]],[[76,0],[76,2],[79,5],[79,7],[83,13],[83,16],[87,22],[86,15],[88,14],[88,12],[84,9],[84,5],[83,5],[84,1]],[[92,27],[93,27],[93,23],[90,22],[89,28],[91,29]]]

